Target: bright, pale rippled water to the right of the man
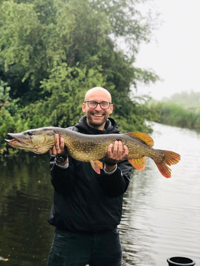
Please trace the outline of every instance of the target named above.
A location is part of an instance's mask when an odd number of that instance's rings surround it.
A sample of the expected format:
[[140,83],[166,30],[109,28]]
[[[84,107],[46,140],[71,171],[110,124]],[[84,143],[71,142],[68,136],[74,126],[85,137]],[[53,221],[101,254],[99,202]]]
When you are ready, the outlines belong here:
[[171,179],[151,159],[134,171],[120,225],[123,265],[167,265],[173,256],[200,265],[200,135],[161,124],[154,130],[154,147],[179,153],[181,161],[170,167]]

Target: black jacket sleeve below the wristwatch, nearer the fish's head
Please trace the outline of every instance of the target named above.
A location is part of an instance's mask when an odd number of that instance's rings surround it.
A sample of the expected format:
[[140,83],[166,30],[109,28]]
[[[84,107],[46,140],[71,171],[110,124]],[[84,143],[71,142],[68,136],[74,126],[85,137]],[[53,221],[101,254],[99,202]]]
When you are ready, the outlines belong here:
[[63,196],[69,194],[74,184],[74,176],[70,166],[60,168],[55,164],[55,155],[50,155],[51,182],[55,191]]

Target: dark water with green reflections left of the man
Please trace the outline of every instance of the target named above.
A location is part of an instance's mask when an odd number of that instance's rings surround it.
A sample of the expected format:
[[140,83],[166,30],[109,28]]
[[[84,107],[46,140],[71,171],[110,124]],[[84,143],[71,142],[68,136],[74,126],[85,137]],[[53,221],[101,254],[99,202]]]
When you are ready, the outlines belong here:
[[7,264],[47,264],[54,230],[47,223],[53,197],[48,160],[22,152],[1,164],[0,254]]

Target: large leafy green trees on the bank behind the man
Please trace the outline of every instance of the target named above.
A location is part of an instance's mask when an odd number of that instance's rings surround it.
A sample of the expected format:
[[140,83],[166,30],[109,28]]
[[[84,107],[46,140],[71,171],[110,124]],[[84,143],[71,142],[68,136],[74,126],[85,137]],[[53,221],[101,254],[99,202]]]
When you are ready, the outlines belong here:
[[[137,10],[145,1],[0,0],[0,153],[8,132],[74,125],[95,86],[111,92],[122,131],[151,132],[147,100],[137,103],[130,90],[158,78],[134,67],[155,26]],[[119,37],[129,56],[116,46]]]

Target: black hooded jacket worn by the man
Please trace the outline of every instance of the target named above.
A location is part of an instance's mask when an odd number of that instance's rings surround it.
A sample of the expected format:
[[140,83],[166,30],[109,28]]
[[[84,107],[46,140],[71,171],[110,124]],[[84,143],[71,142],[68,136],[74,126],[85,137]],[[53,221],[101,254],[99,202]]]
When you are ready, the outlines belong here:
[[[116,122],[109,118],[105,131],[89,127],[86,116],[68,129],[84,134],[120,133]],[[116,171],[97,174],[90,163],[68,156],[69,167],[59,168],[51,155],[51,182],[54,186],[54,203],[49,223],[72,231],[100,231],[112,229],[120,223],[123,193],[129,184],[132,166],[127,160],[118,163]]]

